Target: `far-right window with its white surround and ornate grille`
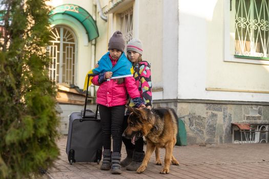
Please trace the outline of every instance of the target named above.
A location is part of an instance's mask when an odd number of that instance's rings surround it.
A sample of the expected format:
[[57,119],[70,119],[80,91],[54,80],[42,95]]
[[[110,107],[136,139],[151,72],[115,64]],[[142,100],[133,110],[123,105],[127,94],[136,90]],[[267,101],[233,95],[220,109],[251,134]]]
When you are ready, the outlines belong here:
[[269,65],[269,2],[224,1],[224,61]]

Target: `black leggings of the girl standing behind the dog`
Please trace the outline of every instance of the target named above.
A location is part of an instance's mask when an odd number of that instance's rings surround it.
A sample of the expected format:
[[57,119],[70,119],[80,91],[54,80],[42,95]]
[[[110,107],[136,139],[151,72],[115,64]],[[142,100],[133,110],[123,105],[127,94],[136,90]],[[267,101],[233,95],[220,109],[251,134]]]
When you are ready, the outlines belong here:
[[[129,116],[125,116],[123,120],[123,126],[122,126],[122,132],[127,128],[128,126],[128,119]],[[122,138],[122,142],[125,144],[126,149],[132,150],[135,149],[137,152],[143,152],[143,138],[139,138],[137,141],[135,141],[135,145],[132,144],[131,139]]]

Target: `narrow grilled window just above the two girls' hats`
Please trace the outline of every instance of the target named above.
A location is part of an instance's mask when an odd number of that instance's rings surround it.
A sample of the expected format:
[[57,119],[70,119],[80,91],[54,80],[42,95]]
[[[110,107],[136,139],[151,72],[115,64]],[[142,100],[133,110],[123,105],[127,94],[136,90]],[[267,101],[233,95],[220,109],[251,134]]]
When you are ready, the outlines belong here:
[[126,44],[133,38],[133,7],[120,13],[121,32]]

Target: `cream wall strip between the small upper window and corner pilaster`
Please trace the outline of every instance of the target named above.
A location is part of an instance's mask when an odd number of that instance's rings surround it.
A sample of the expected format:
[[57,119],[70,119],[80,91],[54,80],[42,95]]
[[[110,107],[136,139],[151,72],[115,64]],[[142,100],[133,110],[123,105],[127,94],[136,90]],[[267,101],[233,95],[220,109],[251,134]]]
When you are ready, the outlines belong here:
[[162,87],[163,1],[139,1],[139,36],[143,59],[151,63],[153,88]]

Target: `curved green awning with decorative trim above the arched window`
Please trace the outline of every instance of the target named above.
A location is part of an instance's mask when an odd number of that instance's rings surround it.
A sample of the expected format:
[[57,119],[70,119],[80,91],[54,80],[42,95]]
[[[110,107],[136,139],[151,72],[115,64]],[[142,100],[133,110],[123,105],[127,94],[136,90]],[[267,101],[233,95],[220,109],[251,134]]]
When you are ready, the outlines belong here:
[[73,4],[64,4],[57,6],[50,11],[51,16],[55,14],[65,14],[77,19],[86,29],[89,41],[99,36],[94,19],[85,9]]

